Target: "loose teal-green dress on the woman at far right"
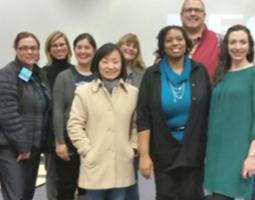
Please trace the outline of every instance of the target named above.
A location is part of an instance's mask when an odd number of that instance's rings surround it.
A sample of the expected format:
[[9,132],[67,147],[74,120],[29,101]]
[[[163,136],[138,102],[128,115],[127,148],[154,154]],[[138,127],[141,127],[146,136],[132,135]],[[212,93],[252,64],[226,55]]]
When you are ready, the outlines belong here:
[[243,162],[255,138],[255,67],[228,72],[214,88],[205,160],[205,189],[251,199],[252,179],[242,178]]

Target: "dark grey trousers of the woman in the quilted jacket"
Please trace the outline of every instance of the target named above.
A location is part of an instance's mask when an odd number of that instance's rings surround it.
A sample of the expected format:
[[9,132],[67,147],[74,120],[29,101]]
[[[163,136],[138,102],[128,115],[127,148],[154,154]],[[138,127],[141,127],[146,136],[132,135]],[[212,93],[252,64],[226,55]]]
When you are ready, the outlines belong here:
[[40,151],[33,150],[30,159],[16,161],[9,147],[0,147],[0,182],[4,200],[32,200],[40,162]]

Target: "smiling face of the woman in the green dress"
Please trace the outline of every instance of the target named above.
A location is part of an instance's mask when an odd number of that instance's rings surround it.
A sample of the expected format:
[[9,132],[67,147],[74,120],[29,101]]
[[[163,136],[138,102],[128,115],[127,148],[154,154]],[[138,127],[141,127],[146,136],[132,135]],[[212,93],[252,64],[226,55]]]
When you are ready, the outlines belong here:
[[232,62],[248,62],[250,45],[248,35],[243,30],[233,31],[228,38],[228,53]]

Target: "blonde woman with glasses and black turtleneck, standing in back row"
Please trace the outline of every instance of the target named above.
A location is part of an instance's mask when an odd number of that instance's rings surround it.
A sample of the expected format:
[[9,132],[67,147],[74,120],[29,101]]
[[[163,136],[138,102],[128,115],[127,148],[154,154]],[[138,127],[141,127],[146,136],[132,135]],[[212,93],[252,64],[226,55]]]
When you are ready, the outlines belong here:
[[[47,65],[43,69],[47,73],[49,79],[51,91],[53,90],[54,83],[57,75],[70,68],[73,65],[70,63],[72,50],[65,33],[60,31],[52,32],[45,43],[45,54],[47,57]],[[52,114],[50,115],[50,128],[49,141],[47,141],[47,153],[46,156],[46,189],[49,200],[56,200],[57,198],[57,175],[56,175],[56,152],[65,151],[64,145],[55,144]]]

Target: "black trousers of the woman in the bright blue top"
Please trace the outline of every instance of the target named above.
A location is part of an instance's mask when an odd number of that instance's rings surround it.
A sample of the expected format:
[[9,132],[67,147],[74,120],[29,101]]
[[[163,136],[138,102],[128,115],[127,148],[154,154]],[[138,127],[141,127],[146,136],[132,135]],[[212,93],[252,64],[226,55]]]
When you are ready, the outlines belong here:
[[155,170],[157,200],[203,199],[203,170],[180,167],[170,171]]

